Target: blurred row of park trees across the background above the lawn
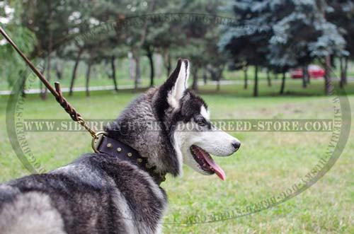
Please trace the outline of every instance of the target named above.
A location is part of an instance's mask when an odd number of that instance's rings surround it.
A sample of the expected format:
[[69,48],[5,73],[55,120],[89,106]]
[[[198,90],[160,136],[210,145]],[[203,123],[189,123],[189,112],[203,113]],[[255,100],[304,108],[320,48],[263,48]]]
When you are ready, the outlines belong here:
[[[193,89],[199,80],[212,80],[219,89],[220,81],[239,79],[245,89],[253,84],[253,96],[258,79],[272,86],[278,74],[284,93],[292,69],[302,69],[307,88],[310,64],[324,68],[326,95],[334,82],[346,86],[352,74],[354,4],[349,0],[6,0],[0,1],[0,25],[69,95],[75,87],[89,95],[92,86],[136,90],[159,84],[178,57],[193,64]],[[91,33],[105,25],[112,30]],[[80,35],[88,36],[77,40]],[[25,65],[4,39],[0,63],[0,90],[7,90]],[[46,98],[47,90],[40,90]]]

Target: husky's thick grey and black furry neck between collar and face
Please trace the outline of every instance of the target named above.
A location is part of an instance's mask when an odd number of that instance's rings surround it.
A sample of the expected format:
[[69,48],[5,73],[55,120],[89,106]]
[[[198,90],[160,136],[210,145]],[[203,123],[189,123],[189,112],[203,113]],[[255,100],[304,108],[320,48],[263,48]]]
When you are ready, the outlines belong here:
[[[134,100],[114,122],[105,127],[108,137],[135,148],[149,165],[161,174],[177,176],[181,165],[176,157],[171,132],[156,112],[165,112],[159,105],[163,98],[151,88]],[[152,124],[150,124],[152,123]]]

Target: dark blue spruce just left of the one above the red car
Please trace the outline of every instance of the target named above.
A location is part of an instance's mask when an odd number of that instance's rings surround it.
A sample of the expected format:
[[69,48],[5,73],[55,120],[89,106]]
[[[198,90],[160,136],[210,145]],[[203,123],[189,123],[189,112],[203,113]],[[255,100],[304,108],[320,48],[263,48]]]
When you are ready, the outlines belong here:
[[267,11],[265,3],[270,1],[234,1],[231,5],[237,25],[224,30],[219,41],[219,47],[234,60],[234,63],[246,62],[255,66],[253,96],[258,96],[258,70],[259,66],[267,64],[269,53],[268,41],[273,30],[269,26],[273,17]]

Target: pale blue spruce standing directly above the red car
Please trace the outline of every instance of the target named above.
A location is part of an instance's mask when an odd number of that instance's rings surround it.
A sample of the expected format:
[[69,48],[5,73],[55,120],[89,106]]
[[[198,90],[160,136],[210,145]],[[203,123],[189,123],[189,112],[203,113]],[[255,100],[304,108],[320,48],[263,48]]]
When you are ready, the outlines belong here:
[[[326,2],[286,1],[280,8],[282,15],[275,16],[282,18],[276,19],[270,40],[270,64],[285,68],[302,66],[307,71],[309,62],[326,58],[325,93],[331,94],[331,57],[343,54],[345,41],[336,25],[326,21]],[[282,80],[285,81],[284,76]]]

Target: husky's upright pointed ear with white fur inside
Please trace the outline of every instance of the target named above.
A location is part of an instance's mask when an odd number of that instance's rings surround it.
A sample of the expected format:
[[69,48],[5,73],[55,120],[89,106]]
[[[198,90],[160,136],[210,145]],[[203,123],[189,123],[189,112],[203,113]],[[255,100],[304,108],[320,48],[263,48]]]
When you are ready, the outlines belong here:
[[164,83],[167,88],[167,102],[175,109],[179,108],[179,101],[183,98],[185,90],[188,88],[189,61],[178,59],[176,69],[172,72],[169,79]]

